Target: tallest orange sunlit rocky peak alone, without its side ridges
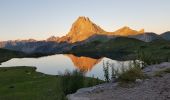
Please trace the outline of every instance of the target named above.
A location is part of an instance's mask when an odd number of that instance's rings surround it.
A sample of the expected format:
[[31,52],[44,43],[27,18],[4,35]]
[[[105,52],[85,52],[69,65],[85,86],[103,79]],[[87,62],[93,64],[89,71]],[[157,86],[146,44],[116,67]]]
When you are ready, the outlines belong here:
[[106,33],[99,26],[94,24],[88,17],[79,17],[72,25],[70,32],[67,34],[71,42],[86,40],[95,34]]

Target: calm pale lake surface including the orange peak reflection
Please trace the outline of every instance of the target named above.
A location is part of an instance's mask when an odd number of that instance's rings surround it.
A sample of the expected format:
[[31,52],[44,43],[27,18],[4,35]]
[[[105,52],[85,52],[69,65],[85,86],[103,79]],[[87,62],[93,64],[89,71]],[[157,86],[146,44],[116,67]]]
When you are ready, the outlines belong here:
[[41,58],[13,58],[0,65],[0,67],[35,66],[36,71],[50,75],[58,75],[65,70],[79,69],[86,72],[86,76],[104,79],[103,62],[108,61],[120,69],[122,64],[127,66],[130,61],[116,61],[106,57],[94,59],[90,57],[77,57],[74,55],[56,54]]

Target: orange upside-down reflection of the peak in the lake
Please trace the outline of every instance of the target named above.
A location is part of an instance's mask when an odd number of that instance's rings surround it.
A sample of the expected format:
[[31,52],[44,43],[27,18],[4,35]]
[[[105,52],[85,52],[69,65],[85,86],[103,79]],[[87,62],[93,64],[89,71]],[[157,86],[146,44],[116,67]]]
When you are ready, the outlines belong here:
[[71,54],[66,56],[68,56],[71,59],[74,66],[76,66],[79,70],[83,72],[90,71],[93,68],[93,66],[95,66],[101,61],[101,59],[94,59],[89,57],[77,57]]

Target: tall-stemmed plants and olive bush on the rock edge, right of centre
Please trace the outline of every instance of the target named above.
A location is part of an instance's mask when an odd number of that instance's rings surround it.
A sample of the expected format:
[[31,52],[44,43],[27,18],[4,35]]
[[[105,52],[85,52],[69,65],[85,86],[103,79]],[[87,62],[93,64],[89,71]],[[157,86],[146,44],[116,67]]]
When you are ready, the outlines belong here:
[[[122,65],[120,70],[115,69],[114,65],[108,62],[103,64],[103,66],[106,82],[114,79],[120,83],[131,83],[135,82],[136,79],[144,79],[146,77],[141,69],[140,62],[137,61],[131,62],[127,67]],[[110,69],[111,71],[109,71]],[[109,72],[111,72],[111,78],[109,77]]]

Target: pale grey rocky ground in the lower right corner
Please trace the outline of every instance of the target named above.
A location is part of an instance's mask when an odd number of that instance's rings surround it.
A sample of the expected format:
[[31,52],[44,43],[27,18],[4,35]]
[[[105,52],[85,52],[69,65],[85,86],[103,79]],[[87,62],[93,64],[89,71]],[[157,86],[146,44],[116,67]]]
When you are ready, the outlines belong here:
[[118,83],[105,83],[90,88],[83,88],[68,95],[68,100],[170,100],[170,73],[157,74],[170,68],[164,62],[148,66],[143,72],[145,80],[137,79],[135,83],[120,86]]

